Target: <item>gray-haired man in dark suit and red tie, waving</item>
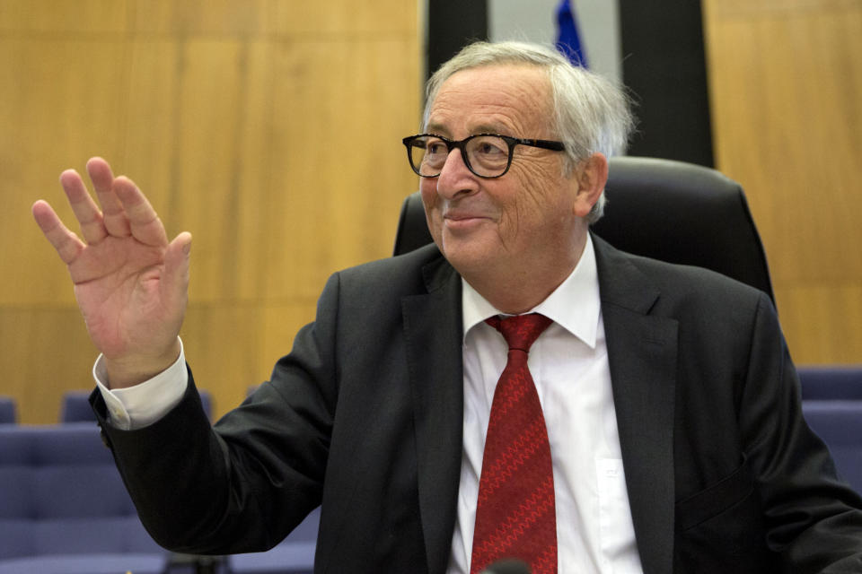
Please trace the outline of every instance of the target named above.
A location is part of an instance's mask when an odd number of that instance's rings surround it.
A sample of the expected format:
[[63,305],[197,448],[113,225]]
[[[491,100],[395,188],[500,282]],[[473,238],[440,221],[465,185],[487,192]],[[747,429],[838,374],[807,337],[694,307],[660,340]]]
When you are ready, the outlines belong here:
[[591,236],[622,92],[479,43],[404,139],[435,245],[334,274],[271,380],[210,428],[178,338],[189,245],[105,161],[33,213],[101,351],[93,405],[142,519],[186,552],[318,572],[858,572],[862,501],[800,413],[770,300]]

